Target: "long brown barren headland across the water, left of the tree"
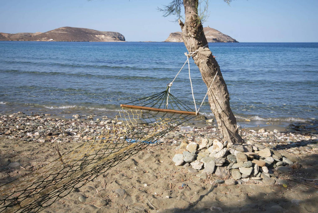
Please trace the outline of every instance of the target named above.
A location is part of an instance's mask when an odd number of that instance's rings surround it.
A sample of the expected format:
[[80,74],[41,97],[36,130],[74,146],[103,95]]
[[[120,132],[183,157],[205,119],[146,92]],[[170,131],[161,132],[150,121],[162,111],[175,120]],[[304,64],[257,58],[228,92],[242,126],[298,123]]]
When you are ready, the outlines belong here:
[[0,33],[0,40],[14,41],[125,41],[119,32],[105,32],[77,27],[60,27],[48,32]]

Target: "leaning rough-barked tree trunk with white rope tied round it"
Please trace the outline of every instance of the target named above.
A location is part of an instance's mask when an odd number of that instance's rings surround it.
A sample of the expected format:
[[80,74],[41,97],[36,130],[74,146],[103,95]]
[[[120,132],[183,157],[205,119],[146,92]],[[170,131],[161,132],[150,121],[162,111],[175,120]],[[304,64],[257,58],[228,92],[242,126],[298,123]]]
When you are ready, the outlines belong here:
[[[198,17],[198,0],[183,0],[183,4],[185,22],[183,24],[179,19],[179,24],[182,29],[184,45],[190,53],[196,51],[199,47],[205,46],[208,42],[203,32],[201,20]],[[223,135],[223,141],[228,141],[228,146],[231,144],[242,144],[243,139],[239,135],[236,119],[230,108],[230,95],[218,62],[212,54],[205,55],[197,52],[192,55],[192,58],[199,67],[207,88],[210,87],[216,72],[218,72],[211,89],[208,91],[210,108]]]

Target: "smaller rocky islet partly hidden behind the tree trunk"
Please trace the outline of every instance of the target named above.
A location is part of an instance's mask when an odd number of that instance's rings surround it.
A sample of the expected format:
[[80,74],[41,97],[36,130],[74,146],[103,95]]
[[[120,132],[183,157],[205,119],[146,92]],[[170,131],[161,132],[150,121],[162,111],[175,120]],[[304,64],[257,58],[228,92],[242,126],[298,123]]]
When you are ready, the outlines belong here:
[[[238,42],[222,32],[211,27],[204,27],[204,34],[208,42]],[[172,32],[165,42],[183,42],[182,32]]]

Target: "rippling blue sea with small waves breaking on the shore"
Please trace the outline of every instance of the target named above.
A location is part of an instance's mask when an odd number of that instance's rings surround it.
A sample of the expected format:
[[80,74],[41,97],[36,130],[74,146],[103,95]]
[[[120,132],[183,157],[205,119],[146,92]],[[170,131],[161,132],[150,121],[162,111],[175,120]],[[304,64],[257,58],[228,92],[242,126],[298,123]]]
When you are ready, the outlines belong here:
[[[239,124],[317,123],[318,43],[209,43]],[[113,116],[166,90],[183,43],[0,41],[0,113]],[[207,91],[190,59],[197,107]],[[195,109],[188,64],[170,93]],[[213,118],[207,98],[200,114]]]

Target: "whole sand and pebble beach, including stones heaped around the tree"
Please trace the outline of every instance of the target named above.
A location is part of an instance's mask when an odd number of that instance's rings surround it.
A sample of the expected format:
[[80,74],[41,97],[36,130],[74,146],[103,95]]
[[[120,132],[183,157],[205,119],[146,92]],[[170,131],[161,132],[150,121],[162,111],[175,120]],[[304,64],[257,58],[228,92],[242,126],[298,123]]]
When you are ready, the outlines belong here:
[[[111,118],[0,114],[0,184],[59,158]],[[44,212],[316,212],[316,123],[240,130],[223,146],[218,128],[177,127]],[[204,124],[204,125],[202,125]]]

